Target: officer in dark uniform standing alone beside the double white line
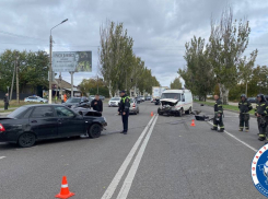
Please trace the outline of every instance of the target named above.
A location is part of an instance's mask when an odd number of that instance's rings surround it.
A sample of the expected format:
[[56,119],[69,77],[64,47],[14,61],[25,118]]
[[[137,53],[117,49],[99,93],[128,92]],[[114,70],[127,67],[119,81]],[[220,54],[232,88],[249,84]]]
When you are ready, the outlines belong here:
[[123,121],[123,131],[121,133],[127,134],[128,132],[128,116],[129,116],[129,106],[130,106],[130,98],[126,95],[125,91],[120,92],[121,101],[119,103],[118,114],[121,115]]

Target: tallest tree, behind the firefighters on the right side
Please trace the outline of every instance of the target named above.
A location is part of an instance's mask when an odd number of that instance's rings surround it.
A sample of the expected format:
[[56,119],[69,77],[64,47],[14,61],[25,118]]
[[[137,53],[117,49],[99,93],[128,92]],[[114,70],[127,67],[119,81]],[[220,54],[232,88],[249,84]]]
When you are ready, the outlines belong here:
[[[211,35],[208,45],[209,61],[213,67],[223,104],[228,104],[229,91],[238,81],[237,68],[247,48],[249,33],[249,22],[233,20],[231,7],[222,12],[219,23],[211,20]],[[254,59],[254,56],[252,58]],[[254,60],[249,62],[254,62]]]

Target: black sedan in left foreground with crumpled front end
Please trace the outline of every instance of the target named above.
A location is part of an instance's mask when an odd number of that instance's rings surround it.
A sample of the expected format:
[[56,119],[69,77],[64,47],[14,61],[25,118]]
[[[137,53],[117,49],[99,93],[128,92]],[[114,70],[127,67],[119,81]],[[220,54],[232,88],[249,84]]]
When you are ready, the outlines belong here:
[[98,138],[107,125],[97,112],[62,105],[26,105],[0,118],[0,142],[18,143],[22,148],[37,140],[88,134]]

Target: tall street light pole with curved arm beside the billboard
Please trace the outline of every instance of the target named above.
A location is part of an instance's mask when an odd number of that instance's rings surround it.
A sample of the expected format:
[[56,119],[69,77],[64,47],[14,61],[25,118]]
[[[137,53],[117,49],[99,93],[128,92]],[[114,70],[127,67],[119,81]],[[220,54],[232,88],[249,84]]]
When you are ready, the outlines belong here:
[[[68,19],[63,20],[61,23],[59,23],[58,25],[67,22]],[[49,37],[49,98],[48,98],[48,103],[53,104],[53,30],[55,27],[57,27],[58,25],[55,25],[51,30],[50,30],[50,37]]]

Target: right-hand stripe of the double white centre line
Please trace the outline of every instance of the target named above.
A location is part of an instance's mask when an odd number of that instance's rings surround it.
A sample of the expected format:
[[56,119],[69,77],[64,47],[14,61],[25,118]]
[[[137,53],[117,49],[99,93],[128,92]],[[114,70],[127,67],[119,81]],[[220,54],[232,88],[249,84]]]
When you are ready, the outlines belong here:
[[117,199],[126,199],[128,197],[128,192],[129,192],[130,187],[132,185],[135,175],[136,175],[136,173],[138,171],[140,161],[141,161],[141,159],[143,156],[143,153],[145,151],[148,141],[149,141],[151,134],[152,134],[152,131],[153,131],[154,125],[155,125],[155,122],[158,120],[158,117],[159,116],[156,116],[156,118],[154,119],[154,121],[153,121],[151,128],[149,129],[149,132],[148,132],[143,143],[140,147],[140,150],[139,150],[139,152],[138,152],[138,154],[137,154],[137,156],[136,156],[136,159],[133,161],[133,164],[132,164],[131,168],[129,169],[129,173],[128,173],[128,175],[127,175],[127,177],[126,177],[126,179],[125,179],[125,182],[123,184],[123,187],[121,187],[121,189],[120,189],[120,191],[119,191],[119,194],[117,196]]

